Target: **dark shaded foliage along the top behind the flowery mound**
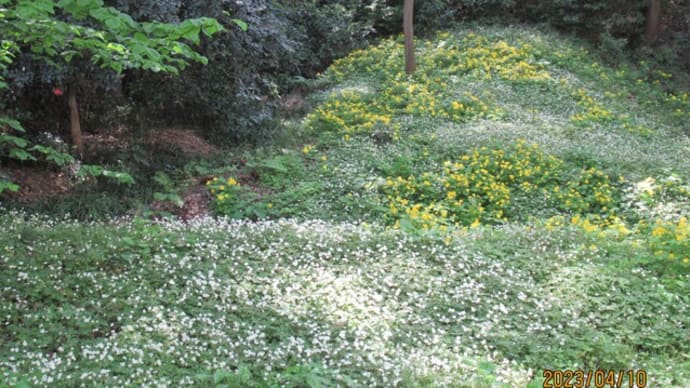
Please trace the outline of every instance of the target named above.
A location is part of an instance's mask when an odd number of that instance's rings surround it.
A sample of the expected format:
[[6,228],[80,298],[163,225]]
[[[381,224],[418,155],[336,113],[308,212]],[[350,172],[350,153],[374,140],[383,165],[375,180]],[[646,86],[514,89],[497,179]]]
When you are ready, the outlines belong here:
[[[116,126],[140,130],[186,126],[219,143],[256,142],[275,134],[279,95],[296,76],[310,77],[335,58],[372,40],[399,33],[402,1],[392,0],[110,0],[137,20],[178,22],[211,16],[227,32],[201,42],[209,58],[180,77],[129,71],[124,76],[87,62],[69,69],[18,58],[0,96],[0,109],[32,132],[64,134],[64,99],[51,94],[70,72],[84,75],[80,110],[87,132]],[[662,28],[643,45],[647,0],[417,0],[415,28],[423,35],[454,23],[492,21],[547,24],[604,48],[612,59],[638,56],[668,69],[690,71],[690,2],[664,0]],[[246,21],[245,32],[231,18]]]

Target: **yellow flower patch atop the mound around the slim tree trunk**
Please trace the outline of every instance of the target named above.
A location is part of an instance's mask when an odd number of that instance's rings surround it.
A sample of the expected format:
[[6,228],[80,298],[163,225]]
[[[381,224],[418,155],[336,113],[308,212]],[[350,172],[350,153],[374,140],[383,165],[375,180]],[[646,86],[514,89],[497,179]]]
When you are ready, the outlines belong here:
[[472,33],[462,39],[441,33],[432,41],[422,42],[420,50],[423,54],[412,77],[402,68],[404,50],[400,39],[389,39],[335,61],[326,73],[334,81],[367,75],[379,80],[380,85],[366,96],[354,91],[332,94],[307,116],[307,125],[349,139],[354,134],[370,133],[380,124],[396,132],[398,128],[391,125],[391,120],[397,115],[455,122],[491,118],[500,112],[489,106],[487,97],[458,93],[458,88],[448,80],[497,77],[513,82],[541,82],[551,79],[545,66],[534,61],[536,50],[529,44],[514,46]]

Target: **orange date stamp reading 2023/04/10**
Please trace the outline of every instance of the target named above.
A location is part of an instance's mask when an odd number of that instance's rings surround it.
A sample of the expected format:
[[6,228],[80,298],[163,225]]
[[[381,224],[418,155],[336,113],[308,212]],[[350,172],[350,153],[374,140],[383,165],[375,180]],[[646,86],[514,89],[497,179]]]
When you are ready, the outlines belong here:
[[645,388],[647,372],[640,370],[544,370],[543,388]]

